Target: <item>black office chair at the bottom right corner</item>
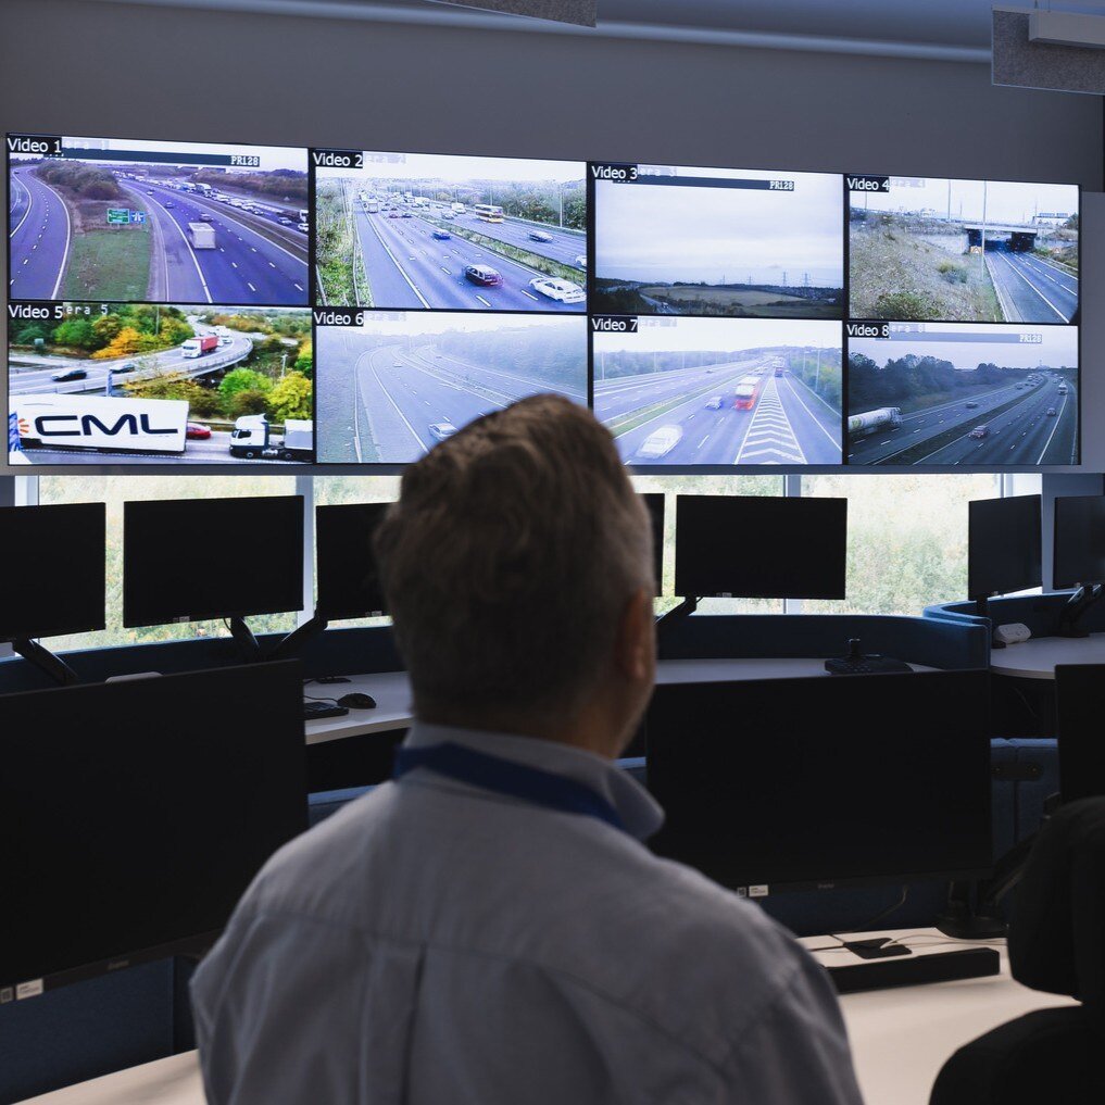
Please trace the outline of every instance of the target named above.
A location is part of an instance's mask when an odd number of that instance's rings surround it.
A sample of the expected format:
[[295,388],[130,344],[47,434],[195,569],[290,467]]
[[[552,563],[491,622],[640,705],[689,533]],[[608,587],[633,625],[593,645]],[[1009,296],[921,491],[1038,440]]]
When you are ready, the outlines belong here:
[[1105,798],[1040,831],[1009,926],[1018,982],[1075,998],[1001,1024],[944,1064],[929,1105],[1105,1102]]

